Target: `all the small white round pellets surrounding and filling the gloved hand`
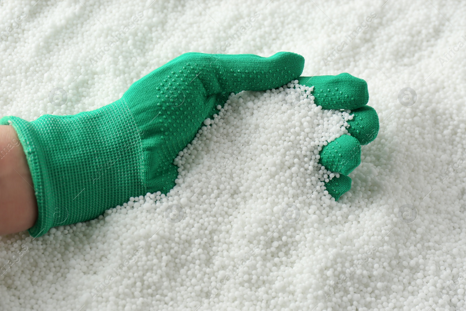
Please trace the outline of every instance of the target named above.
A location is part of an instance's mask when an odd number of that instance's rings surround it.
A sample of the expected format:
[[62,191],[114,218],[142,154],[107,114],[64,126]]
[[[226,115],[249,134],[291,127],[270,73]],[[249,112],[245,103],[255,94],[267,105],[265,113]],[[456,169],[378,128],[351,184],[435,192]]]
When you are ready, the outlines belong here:
[[295,81],[232,95],[175,159],[166,196],[1,236],[0,310],[466,309],[461,3],[0,6],[1,116],[96,109],[189,51],[285,50],[305,76],[365,79],[381,123],[336,202],[318,153],[347,134],[350,111],[321,110]]

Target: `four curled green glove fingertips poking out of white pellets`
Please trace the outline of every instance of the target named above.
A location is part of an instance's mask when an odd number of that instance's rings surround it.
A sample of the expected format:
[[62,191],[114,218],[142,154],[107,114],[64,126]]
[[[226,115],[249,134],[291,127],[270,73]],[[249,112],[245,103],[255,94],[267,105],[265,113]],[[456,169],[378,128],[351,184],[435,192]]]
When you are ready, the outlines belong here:
[[351,134],[336,138],[322,147],[319,163],[333,173],[340,173],[325,183],[326,190],[335,200],[351,188],[346,176],[361,163],[361,145],[367,145],[377,137],[379,120],[374,108],[367,106],[367,83],[347,73],[337,76],[299,77],[299,84],[314,86],[314,103],[322,109],[349,109],[354,114],[348,120]]

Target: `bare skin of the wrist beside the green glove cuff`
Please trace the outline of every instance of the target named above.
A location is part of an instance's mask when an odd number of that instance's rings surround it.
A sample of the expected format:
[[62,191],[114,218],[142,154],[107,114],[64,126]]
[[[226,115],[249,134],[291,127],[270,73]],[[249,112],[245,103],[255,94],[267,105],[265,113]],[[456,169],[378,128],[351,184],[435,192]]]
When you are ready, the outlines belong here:
[[0,125],[0,235],[31,228],[37,219],[26,155],[11,125]]

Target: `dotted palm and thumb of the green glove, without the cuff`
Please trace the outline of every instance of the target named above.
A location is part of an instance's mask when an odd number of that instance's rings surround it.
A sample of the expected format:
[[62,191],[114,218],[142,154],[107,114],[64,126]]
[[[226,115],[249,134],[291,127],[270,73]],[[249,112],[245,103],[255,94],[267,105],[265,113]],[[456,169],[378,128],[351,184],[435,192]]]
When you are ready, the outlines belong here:
[[281,87],[302,73],[304,58],[289,52],[270,57],[186,53],[152,71],[123,94],[137,128],[151,192],[175,185],[173,160],[230,93]]

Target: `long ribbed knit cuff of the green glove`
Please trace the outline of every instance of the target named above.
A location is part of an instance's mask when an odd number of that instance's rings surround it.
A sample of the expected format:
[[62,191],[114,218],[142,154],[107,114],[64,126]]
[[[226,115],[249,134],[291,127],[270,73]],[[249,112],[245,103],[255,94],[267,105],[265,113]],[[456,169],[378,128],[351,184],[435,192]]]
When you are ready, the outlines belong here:
[[7,116],[0,124],[14,127],[26,154],[38,207],[28,230],[34,237],[147,193],[141,138],[124,101],[32,122]]

